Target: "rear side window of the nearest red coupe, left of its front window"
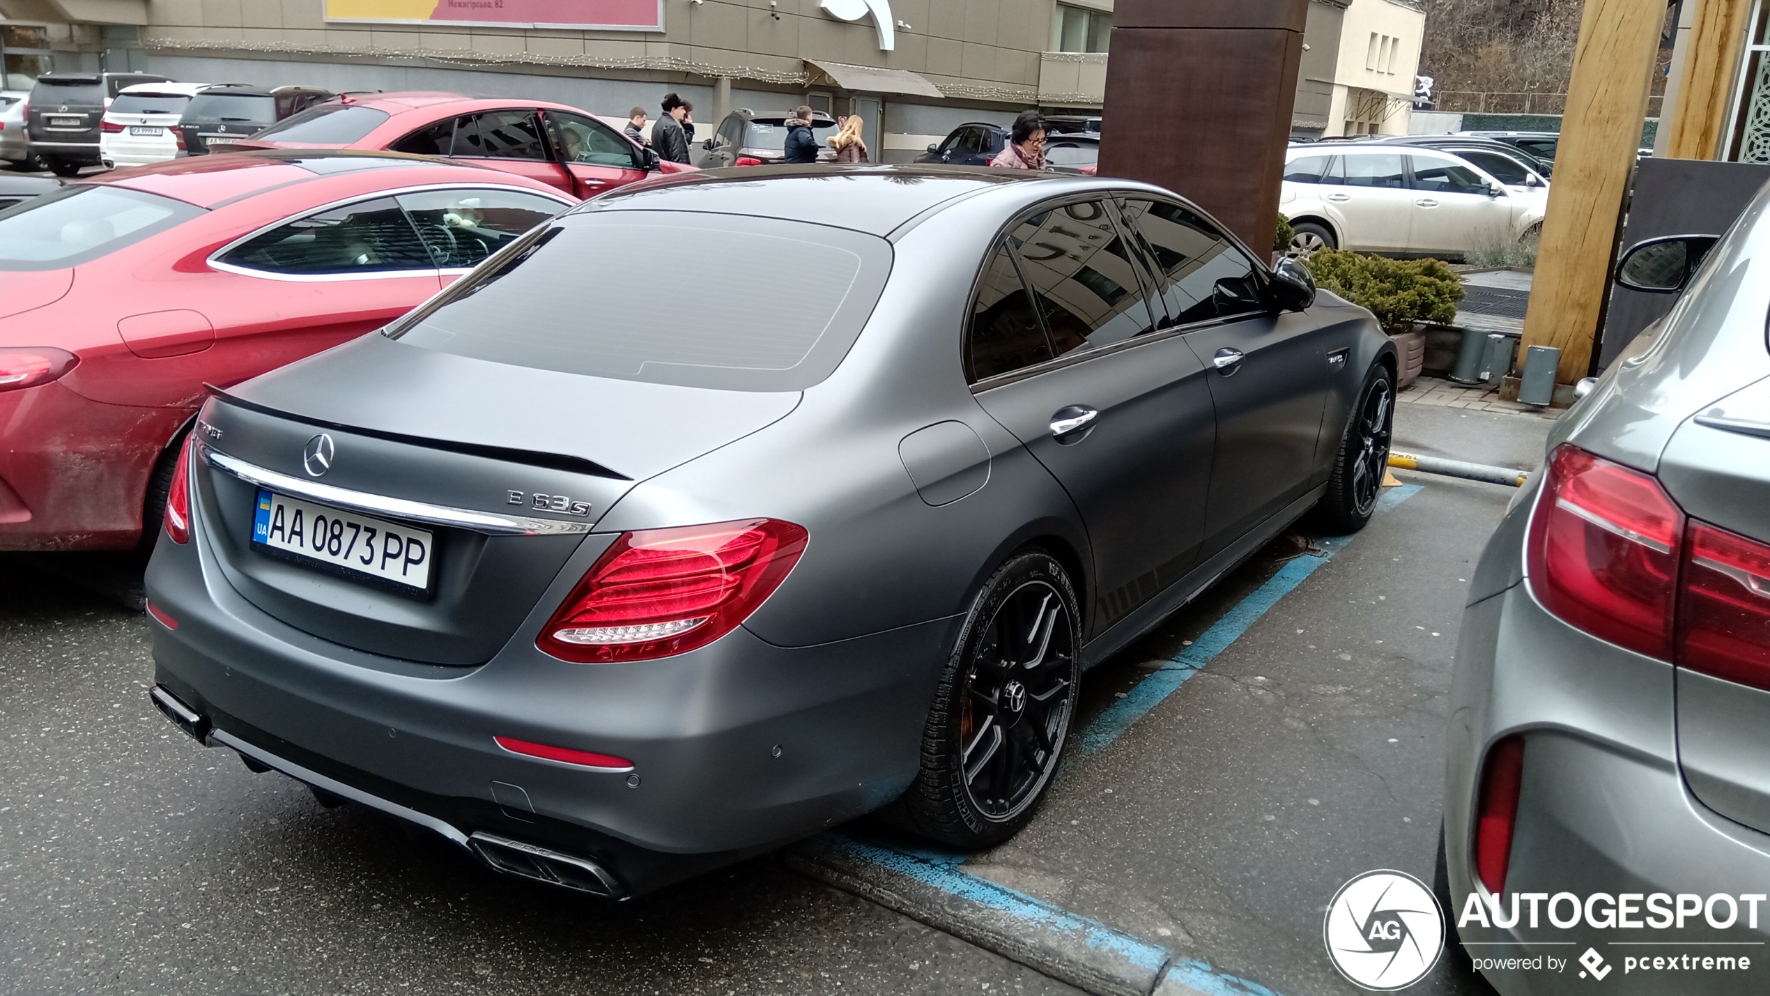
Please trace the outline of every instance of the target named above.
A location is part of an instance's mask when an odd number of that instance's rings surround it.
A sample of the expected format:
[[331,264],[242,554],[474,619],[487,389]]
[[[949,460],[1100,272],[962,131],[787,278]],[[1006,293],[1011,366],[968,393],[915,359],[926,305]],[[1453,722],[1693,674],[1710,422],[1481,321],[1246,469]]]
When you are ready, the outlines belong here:
[[391,196],[280,225],[235,246],[219,262],[301,276],[435,269],[412,223]]

